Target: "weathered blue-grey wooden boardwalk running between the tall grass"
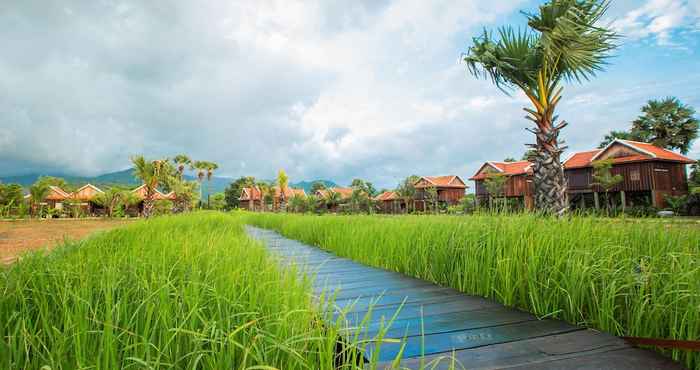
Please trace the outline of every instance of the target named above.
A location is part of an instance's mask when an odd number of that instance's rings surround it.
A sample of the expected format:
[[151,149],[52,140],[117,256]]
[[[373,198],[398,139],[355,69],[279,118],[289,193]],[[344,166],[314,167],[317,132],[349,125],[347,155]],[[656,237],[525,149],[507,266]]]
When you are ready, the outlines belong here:
[[[682,369],[605,333],[538,320],[495,301],[340,258],[273,231],[247,231],[280,264],[295,264],[315,276],[317,296],[334,293],[336,315],[343,312],[350,327],[368,317],[362,328],[368,338],[396,316],[385,338],[402,343],[381,345],[377,356],[384,363],[379,368],[390,367],[404,346],[401,368],[409,369],[431,361],[438,363],[435,369],[447,369],[453,360],[458,369]],[[365,358],[375,350],[369,345]]]

